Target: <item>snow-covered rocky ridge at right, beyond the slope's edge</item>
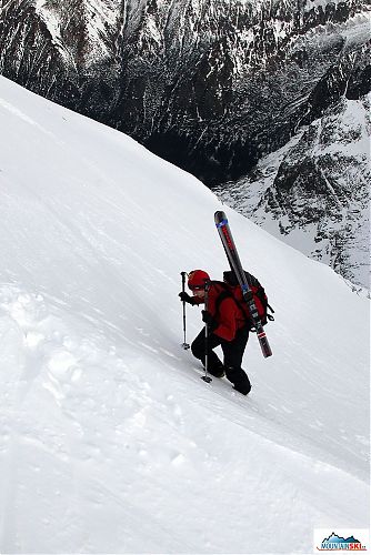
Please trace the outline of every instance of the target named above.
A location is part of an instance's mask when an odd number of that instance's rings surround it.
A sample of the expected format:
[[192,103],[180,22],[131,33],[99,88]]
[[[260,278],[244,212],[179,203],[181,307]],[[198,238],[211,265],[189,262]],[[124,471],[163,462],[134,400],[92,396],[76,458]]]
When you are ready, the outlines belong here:
[[370,95],[343,98],[244,179],[215,192],[354,284],[370,285]]

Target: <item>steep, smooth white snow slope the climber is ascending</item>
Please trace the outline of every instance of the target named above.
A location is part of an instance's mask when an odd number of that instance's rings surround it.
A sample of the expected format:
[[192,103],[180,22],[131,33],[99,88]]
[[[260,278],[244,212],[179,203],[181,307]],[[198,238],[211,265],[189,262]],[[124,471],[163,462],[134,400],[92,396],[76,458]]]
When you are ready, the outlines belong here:
[[[248,397],[182,351],[217,198],[0,79],[0,552],[308,553],[369,523],[369,303],[227,210],[277,311]],[[187,312],[188,339],[201,327]]]

